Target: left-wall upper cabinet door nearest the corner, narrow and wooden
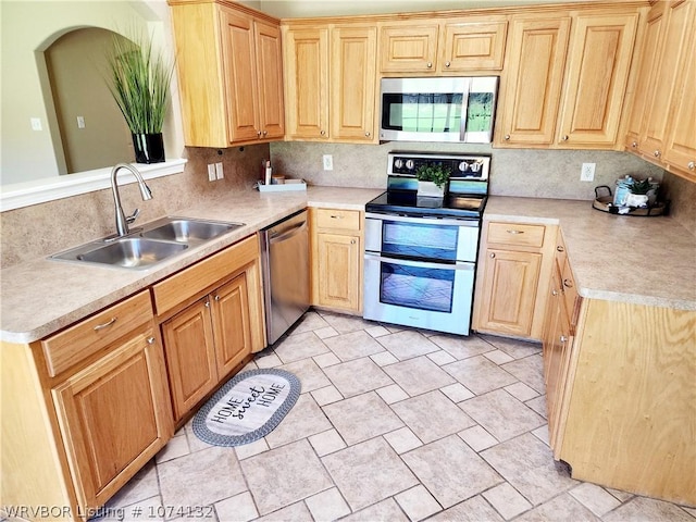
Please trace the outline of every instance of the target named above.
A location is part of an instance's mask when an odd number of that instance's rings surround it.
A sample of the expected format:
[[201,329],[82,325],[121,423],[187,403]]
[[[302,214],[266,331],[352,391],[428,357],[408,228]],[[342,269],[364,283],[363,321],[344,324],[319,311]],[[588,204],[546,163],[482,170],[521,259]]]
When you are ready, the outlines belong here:
[[283,51],[281,28],[254,21],[257,92],[261,138],[279,139],[285,136],[285,105],[283,102]]

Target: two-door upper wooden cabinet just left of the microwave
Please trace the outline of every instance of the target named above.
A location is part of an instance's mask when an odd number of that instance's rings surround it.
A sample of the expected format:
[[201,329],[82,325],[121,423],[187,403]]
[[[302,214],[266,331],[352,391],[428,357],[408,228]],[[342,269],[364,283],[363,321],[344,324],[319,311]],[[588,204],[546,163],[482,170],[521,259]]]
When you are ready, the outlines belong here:
[[284,26],[287,139],[376,142],[377,32]]

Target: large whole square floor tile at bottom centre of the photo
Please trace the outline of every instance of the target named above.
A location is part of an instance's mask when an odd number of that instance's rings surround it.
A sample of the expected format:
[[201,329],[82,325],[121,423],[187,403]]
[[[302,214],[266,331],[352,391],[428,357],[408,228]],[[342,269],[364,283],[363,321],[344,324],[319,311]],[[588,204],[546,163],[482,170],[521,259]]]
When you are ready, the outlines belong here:
[[376,437],[322,458],[352,511],[418,485],[386,440]]

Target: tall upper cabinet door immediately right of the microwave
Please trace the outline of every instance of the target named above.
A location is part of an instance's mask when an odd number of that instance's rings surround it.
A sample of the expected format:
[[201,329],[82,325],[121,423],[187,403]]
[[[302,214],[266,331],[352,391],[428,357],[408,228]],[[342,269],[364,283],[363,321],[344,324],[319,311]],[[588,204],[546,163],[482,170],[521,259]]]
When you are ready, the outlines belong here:
[[496,145],[554,144],[570,17],[512,18]]

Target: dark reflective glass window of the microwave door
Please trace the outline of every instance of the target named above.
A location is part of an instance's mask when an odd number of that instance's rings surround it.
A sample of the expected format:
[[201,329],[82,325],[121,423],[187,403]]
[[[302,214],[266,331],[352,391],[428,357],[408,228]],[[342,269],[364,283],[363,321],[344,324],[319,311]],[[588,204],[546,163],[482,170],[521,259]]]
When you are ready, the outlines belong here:
[[384,94],[383,127],[413,133],[459,133],[462,99],[461,94]]

